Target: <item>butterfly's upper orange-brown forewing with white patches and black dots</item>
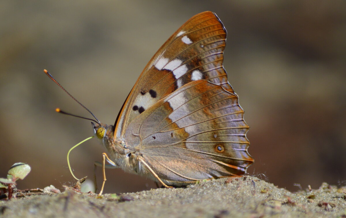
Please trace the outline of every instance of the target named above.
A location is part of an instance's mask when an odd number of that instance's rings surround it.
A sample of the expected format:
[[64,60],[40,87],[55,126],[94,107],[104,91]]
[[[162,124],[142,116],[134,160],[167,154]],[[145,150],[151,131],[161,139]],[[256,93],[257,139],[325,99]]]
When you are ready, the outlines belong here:
[[234,93],[222,66],[226,30],[211,11],[195,15],[158,49],[128,95],[115,122],[114,138],[160,99],[191,81],[206,79]]

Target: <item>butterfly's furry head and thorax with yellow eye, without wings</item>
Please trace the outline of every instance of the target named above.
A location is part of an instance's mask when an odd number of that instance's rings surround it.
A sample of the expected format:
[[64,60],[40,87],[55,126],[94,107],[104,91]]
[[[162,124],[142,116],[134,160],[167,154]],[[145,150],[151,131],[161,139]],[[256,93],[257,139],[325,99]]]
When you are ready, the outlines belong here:
[[102,141],[110,159],[116,164],[115,166],[126,172],[136,173],[137,161],[135,160],[135,151],[126,146],[124,139],[114,138],[113,125],[94,124],[94,135]]

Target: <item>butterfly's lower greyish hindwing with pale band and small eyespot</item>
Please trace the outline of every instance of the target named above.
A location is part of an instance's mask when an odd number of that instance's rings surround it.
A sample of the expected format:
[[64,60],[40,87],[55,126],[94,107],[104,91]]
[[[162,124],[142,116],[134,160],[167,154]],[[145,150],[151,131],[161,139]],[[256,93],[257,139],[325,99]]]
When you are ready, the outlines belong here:
[[196,80],[135,117],[125,141],[161,179],[239,176],[253,162],[243,115],[237,95]]

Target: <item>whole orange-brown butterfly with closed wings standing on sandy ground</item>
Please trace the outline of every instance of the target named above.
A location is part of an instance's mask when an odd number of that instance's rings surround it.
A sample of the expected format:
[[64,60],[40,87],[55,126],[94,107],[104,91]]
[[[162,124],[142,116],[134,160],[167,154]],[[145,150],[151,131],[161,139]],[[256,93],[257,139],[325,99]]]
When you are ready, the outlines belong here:
[[115,124],[92,122],[103,158],[165,187],[244,174],[254,161],[249,126],[222,64],[225,45],[215,13],[186,21],[146,65]]

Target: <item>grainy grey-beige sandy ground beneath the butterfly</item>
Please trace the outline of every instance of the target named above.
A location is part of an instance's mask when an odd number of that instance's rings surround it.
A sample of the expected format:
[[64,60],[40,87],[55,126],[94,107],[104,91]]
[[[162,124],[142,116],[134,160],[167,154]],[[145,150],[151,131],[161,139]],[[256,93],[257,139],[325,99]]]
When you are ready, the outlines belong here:
[[246,176],[101,197],[66,189],[2,200],[0,217],[346,217],[345,188],[292,193]]

